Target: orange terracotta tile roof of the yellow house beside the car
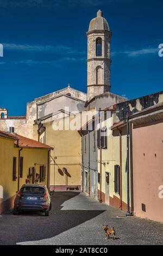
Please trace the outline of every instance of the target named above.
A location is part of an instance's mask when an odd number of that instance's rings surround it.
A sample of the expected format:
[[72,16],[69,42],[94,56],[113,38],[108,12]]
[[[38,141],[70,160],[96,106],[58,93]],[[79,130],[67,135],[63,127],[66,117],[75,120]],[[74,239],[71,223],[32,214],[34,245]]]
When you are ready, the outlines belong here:
[[34,141],[34,139],[29,139],[21,135],[17,135],[16,133],[0,131],[0,136],[14,139],[15,145],[17,145],[19,148],[53,149],[52,147],[46,144]]

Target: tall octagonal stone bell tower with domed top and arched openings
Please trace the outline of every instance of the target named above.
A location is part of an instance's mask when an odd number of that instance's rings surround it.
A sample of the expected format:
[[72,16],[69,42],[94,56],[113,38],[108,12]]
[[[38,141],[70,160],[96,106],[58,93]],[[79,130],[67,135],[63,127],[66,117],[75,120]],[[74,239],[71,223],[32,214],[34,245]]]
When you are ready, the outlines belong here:
[[101,10],[92,19],[87,34],[87,100],[110,92],[110,39],[108,22]]

